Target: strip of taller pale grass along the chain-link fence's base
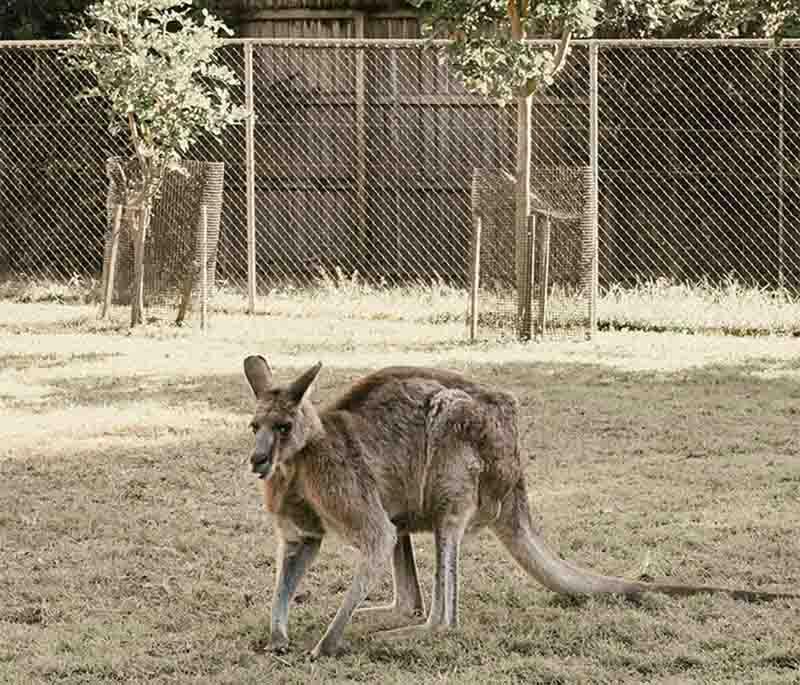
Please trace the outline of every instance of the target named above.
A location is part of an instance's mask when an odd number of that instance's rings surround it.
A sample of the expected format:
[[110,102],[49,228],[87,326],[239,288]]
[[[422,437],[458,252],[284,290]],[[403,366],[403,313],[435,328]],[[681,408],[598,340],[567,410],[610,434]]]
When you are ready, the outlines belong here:
[[[0,282],[0,300],[17,302],[86,303],[97,297],[98,284],[74,278],[52,281]],[[467,293],[442,282],[375,287],[357,275],[320,272],[304,288],[275,288],[259,302],[263,314],[288,318],[357,318],[374,321],[452,323],[464,320]],[[247,306],[241,289],[222,285],[210,303],[220,313],[241,314]],[[572,324],[582,321],[586,306],[553,288],[551,315]],[[498,326],[513,330],[513,293],[482,291],[479,303],[484,335]],[[164,312],[165,316],[174,313]],[[721,284],[641,281],[632,287],[613,285],[600,292],[600,330],[713,332],[726,335],[800,335],[800,297],[788,290],[745,286],[733,279]],[[123,324],[124,325],[124,324]],[[582,325],[582,324],[581,324]]]

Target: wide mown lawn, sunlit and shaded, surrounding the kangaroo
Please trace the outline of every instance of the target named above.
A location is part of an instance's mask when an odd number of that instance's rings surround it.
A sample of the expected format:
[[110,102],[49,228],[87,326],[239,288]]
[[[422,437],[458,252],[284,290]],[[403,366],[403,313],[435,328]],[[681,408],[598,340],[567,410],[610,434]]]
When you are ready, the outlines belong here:
[[[265,654],[274,541],[243,463],[240,368],[253,352],[281,379],[321,359],[319,399],[393,362],[506,387],[524,413],[531,498],[562,555],[630,576],[800,586],[791,338],[468,346],[463,323],[423,316],[433,300],[405,318],[320,303],[218,315],[202,336],[0,302],[0,682],[800,680],[800,601],[566,600],[489,534],[464,546],[457,633],[384,644],[372,634],[388,625],[355,621],[345,654],[310,663],[356,558],[331,541],[293,607],[293,650]],[[428,591],[431,540],[416,545]],[[389,592],[387,571],[373,599]]]

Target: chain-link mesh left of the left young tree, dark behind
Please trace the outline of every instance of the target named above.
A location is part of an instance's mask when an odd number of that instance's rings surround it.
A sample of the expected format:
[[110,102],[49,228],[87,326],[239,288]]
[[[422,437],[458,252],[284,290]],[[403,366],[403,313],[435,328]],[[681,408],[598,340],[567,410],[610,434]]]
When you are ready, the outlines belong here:
[[0,49],[0,277],[100,273],[105,159],[120,154],[56,49]]

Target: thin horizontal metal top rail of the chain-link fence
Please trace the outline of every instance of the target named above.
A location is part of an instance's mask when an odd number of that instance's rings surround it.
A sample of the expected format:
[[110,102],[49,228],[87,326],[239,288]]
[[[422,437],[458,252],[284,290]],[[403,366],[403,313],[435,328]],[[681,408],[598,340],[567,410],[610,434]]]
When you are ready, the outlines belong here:
[[[0,40],[2,49],[57,49],[76,43],[75,40]],[[447,47],[446,39],[427,38],[225,38],[224,45],[265,45],[274,47],[312,48],[411,48]],[[531,45],[556,45],[556,39],[531,39]],[[800,48],[800,38],[786,38],[780,43],[770,38],[575,38],[572,45],[598,48],[692,48],[692,47],[751,47]]]

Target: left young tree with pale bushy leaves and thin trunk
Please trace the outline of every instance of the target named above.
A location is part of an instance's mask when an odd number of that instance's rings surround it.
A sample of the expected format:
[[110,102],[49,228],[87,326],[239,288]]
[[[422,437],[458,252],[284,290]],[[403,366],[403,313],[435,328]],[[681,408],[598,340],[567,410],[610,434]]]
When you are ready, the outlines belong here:
[[144,246],[153,203],[170,172],[202,134],[219,137],[244,120],[229,87],[235,74],[216,50],[225,24],[185,0],[100,0],[86,11],[91,22],[67,49],[70,63],[94,75],[84,97],[103,97],[110,131],[125,132],[133,151],[121,165],[124,222],[133,238],[134,293],[131,325],[144,310]]

